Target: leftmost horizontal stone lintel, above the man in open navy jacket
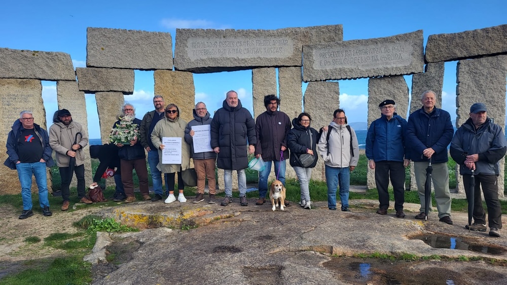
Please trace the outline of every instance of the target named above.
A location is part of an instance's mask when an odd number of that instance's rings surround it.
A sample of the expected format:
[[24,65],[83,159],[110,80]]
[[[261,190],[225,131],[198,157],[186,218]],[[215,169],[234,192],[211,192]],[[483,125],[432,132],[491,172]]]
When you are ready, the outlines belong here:
[[70,55],[0,48],[0,78],[76,80]]

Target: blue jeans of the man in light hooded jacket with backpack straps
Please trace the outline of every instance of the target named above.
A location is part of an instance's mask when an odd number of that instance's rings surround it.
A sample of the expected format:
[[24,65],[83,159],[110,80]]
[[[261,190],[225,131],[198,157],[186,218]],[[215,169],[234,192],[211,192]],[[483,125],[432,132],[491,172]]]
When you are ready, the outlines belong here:
[[348,167],[331,167],[325,165],[325,181],[328,185],[328,208],[336,208],[336,188],[340,185],[342,210],[348,208],[350,188],[350,169]]

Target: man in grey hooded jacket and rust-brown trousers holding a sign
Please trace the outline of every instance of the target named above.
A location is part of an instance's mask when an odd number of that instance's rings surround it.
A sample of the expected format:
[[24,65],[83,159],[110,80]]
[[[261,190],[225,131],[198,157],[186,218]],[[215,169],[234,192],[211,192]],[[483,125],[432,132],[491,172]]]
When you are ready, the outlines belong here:
[[216,179],[215,163],[216,154],[213,151],[196,153],[194,150],[193,126],[211,125],[213,118],[210,117],[203,102],[198,102],[194,109],[194,120],[190,121],[185,128],[185,141],[190,145],[190,156],[194,160],[195,171],[197,172],[197,195],[192,203],[199,203],[204,200],[204,186],[206,178],[208,179],[209,200],[208,203],[215,202]]

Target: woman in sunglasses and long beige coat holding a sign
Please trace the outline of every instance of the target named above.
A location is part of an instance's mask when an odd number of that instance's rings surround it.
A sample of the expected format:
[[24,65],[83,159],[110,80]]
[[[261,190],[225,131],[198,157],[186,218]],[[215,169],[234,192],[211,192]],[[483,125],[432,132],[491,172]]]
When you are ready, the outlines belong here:
[[[165,108],[165,118],[158,121],[152,132],[153,145],[159,150],[159,164],[157,168],[164,173],[165,185],[169,190],[169,196],[165,199],[165,203],[176,201],[174,196],[174,173],[178,173],[178,201],[180,203],[187,202],[183,189],[185,184],[182,179],[182,170],[190,167],[190,145],[185,142],[185,127],[187,122],[179,117],[179,108],[175,104],[169,104]],[[165,146],[162,144],[163,137],[180,137],[182,138],[182,163],[181,164],[163,164],[162,150]]]

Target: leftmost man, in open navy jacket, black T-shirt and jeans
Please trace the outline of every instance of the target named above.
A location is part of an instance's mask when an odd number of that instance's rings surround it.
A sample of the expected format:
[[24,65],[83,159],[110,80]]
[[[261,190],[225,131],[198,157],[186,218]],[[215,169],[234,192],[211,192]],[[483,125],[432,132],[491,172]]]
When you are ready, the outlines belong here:
[[48,132],[38,124],[33,123],[33,115],[30,111],[22,111],[19,120],[12,125],[12,130],[7,137],[7,154],[9,157],[4,164],[18,171],[21,183],[21,199],[23,212],[19,219],[33,216],[31,200],[32,175],[39,188],[39,204],[44,216],[53,215],[49,210],[48,179],[46,167],[55,164],[51,154],[53,150],[49,146]]

